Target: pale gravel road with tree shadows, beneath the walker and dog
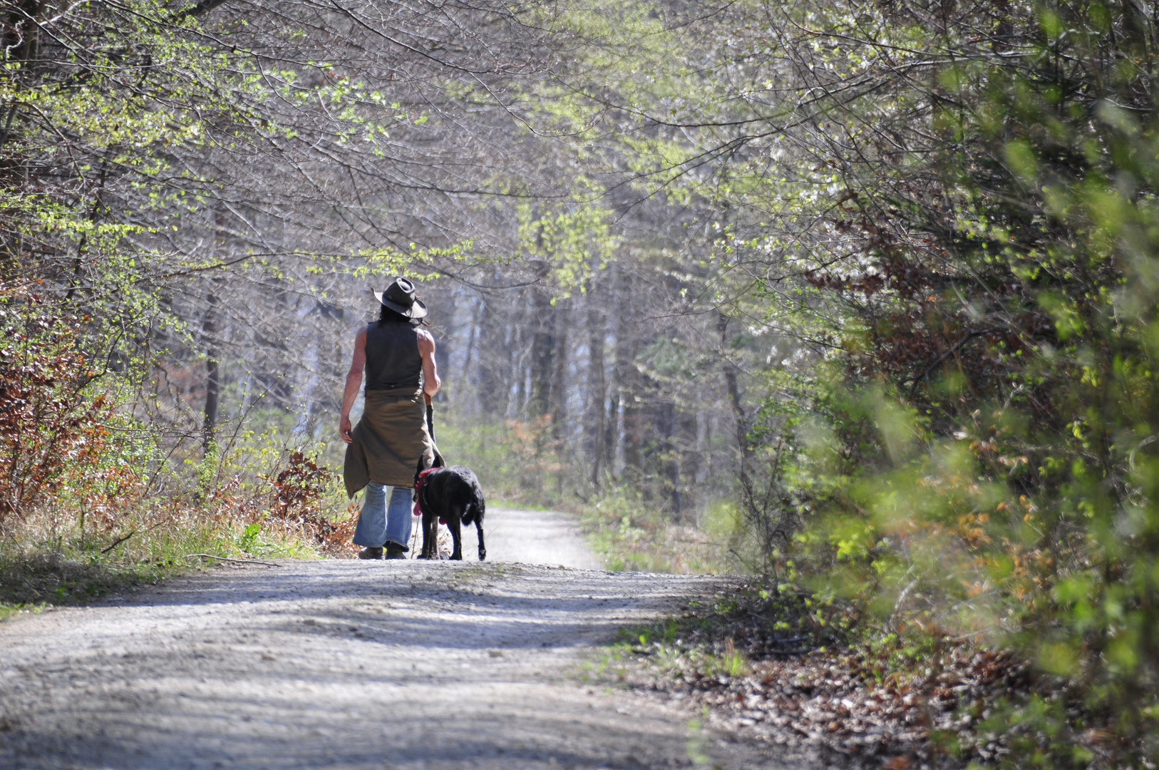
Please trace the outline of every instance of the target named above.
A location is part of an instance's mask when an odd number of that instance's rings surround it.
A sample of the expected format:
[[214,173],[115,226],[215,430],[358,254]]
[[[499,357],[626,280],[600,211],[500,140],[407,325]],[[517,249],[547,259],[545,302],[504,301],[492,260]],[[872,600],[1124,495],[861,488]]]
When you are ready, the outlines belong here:
[[[500,546],[520,518],[494,513]],[[552,558],[591,558],[566,520],[537,516],[573,538]],[[0,624],[0,768],[785,767],[577,677],[618,627],[710,584],[297,560],[23,616]]]

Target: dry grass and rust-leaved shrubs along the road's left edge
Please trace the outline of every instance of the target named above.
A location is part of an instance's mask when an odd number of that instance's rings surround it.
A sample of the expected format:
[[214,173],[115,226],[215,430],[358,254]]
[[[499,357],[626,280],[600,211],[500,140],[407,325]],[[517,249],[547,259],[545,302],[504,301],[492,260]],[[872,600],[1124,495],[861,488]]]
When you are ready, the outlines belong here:
[[0,286],[0,612],[83,602],[214,558],[349,551],[334,474],[276,435],[163,456],[83,319]]

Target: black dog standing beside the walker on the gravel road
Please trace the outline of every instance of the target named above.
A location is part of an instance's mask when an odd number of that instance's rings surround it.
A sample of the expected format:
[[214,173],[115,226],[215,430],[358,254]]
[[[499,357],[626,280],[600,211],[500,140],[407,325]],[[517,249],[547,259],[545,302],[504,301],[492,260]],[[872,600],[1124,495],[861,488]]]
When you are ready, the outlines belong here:
[[479,479],[471,468],[462,465],[445,467],[443,458],[436,456],[430,470],[422,470],[422,459],[415,472],[415,487],[418,491],[418,508],[423,513],[423,559],[437,559],[438,520],[446,522],[454,538],[454,551],[451,558],[462,561],[462,524],[474,522],[479,532],[479,560],[487,558],[483,546],[483,515],[487,513],[487,501]]

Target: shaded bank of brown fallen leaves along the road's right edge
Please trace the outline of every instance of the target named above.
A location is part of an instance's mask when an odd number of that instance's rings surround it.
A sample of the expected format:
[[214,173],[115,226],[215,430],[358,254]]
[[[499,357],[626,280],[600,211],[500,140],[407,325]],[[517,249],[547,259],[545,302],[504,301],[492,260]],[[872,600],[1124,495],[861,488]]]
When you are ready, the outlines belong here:
[[735,582],[679,616],[625,629],[584,677],[858,767],[1014,767],[1048,739],[1027,712],[1067,722],[1052,740],[1089,767],[1111,756],[1107,717],[1011,652],[948,634],[921,613],[870,623],[839,602],[777,588]]

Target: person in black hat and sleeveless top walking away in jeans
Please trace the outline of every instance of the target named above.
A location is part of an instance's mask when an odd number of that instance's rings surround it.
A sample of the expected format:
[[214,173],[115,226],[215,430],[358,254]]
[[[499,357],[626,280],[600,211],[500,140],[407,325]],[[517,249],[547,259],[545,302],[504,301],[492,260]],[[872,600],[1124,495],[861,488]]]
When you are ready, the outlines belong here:
[[[379,319],[358,332],[342,394],[338,433],[347,443],[342,478],[347,494],[365,488],[353,542],[359,559],[406,559],[410,542],[410,492],[422,458],[435,459],[427,429],[423,393],[435,395],[442,382],[435,366],[435,337],[421,328],[427,305],[415,285],[398,277],[376,291]],[[363,416],[351,430],[350,409],[366,376]]]

